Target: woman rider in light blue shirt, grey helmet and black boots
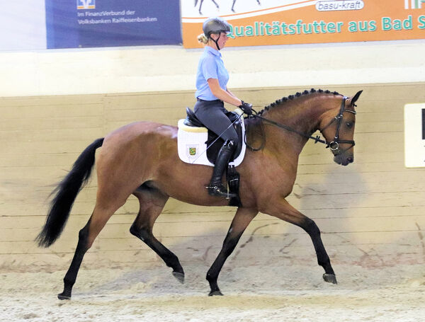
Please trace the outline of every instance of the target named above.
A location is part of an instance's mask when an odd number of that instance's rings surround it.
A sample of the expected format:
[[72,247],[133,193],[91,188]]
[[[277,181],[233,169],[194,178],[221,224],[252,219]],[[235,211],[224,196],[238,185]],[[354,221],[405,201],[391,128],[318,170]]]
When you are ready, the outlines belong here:
[[229,118],[223,102],[241,108],[244,113],[252,114],[252,105],[239,100],[227,89],[229,73],[222,61],[220,50],[225,47],[230,26],[222,18],[208,18],[203,23],[203,34],[198,36],[198,42],[205,45],[205,50],[199,59],[196,74],[196,93],[198,99],[194,112],[200,122],[212,132],[222,137],[225,144],[220,149],[215,160],[212,178],[208,188],[210,195],[219,197],[236,197],[227,192],[222,185],[222,176],[237,147],[237,132]]

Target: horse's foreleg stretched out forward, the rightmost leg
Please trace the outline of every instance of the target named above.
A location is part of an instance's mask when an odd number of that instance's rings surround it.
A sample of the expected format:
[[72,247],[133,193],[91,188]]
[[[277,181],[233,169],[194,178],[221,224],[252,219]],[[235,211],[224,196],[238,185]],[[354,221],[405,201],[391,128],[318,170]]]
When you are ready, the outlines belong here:
[[317,224],[312,219],[306,217],[304,214],[292,207],[286,200],[283,200],[283,203],[280,203],[276,209],[267,211],[266,213],[282,219],[285,222],[295,224],[309,234],[310,238],[312,238],[314,250],[316,251],[317,263],[324,268],[323,279],[326,282],[336,284],[334,269],[332,268],[329,256],[324,249],[322,238],[320,237],[320,230],[317,227]]

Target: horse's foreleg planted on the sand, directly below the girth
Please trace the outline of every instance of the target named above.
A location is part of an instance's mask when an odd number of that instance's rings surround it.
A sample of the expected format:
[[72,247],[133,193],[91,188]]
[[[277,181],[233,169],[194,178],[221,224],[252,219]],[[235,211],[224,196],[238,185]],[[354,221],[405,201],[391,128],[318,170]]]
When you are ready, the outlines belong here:
[[257,213],[258,211],[256,209],[237,209],[232,224],[230,225],[229,231],[227,232],[225,241],[223,242],[222,249],[217,255],[217,258],[215,258],[214,263],[212,263],[211,268],[210,270],[208,270],[207,273],[206,278],[210,283],[211,288],[209,296],[222,295],[222,292],[220,292],[220,289],[217,285],[217,278],[220,274],[220,270],[222,269],[229,255],[232,253],[232,251],[234,251],[234,248],[236,247],[239,238],[241,238],[246,227],[249,225],[251,220],[256,217]]

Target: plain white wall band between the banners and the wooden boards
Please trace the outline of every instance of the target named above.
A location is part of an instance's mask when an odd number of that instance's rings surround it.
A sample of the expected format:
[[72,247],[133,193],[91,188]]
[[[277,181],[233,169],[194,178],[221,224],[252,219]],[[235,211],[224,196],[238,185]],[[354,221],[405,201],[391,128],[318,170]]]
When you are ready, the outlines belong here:
[[[202,50],[0,52],[0,97],[193,90]],[[425,41],[225,48],[229,88],[425,81]]]

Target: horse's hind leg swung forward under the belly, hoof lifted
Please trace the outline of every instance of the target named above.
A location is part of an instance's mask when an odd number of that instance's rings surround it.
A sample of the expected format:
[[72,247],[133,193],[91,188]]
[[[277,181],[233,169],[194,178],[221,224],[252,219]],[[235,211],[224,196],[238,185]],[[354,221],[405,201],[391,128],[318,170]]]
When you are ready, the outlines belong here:
[[135,222],[133,222],[130,233],[144,241],[152,251],[157,253],[164,260],[169,268],[173,269],[173,275],[179,282],[184,282],[184,272],[180,265],[179,258],[169,251],[157,238],[152,234],[152,227],[161,214],[168,195],[164,195],[155,188],[149,188],[143,185],[142,188],[133,193],[140,202],[140,211],[137,214]]

